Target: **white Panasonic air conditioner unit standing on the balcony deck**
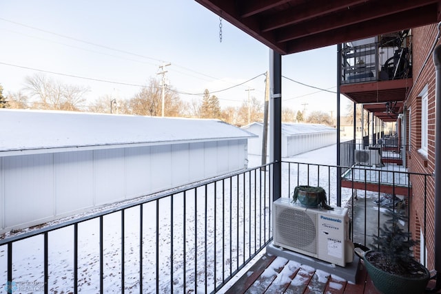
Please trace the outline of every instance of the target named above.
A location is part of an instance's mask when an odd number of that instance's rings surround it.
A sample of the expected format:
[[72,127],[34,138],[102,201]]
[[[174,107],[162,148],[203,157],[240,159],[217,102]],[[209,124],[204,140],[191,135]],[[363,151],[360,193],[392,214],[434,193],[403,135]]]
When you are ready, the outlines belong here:
[[274,245],[346,266],[353,260],[347,209],[312,209],[279,198],[274,202]]

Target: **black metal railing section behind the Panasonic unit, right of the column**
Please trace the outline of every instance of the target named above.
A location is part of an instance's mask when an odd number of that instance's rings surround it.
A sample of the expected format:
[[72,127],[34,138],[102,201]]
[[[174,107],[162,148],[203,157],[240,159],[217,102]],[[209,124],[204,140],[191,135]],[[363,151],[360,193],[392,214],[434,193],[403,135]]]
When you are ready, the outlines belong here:
[[[371,247],[372,236],[379,235],[380,227],[383,226],[387,217],[384,216],[384,211],[389,209],[404,209],[407,215],[410,215],[412,196],[412,181],[420,183],[420,190],[413,191],[413,194],[418,195],[418,202],[424,202],[423,211],[420,211],[419,220],[421,234],[422,248],[426,248],[427,231],[427,185],[429,182],[433,183],[433,175],[409,173],[407,171],[390,171],[388,178],[371,177],[367,175],[367,169],[362,167],[338,167],[332,165],[317,165],[302,162],[282,162],[283,174],[283,197],[291,197],[294,193],[294,188],[297,185],[320,186],[327,192],[327,202],[331,206],[336,206],[338,203],[338,185],[336,178],[340,170],[347,169],[351,173],[365,174],[364,178],[357,179],[352,176],[349,179],[351,185],[341,189],[340,202],[342,207],[348,207],[350,218],[352,220],[351,226],[351,240],[354,243],[359,243],[367,247]],[[381,172],[379,172],[381,174]],[[385,174],[385,173],[384,173]],[[403,180],[404,179],[404,180]],[[362,187],[362,189],[357,188]],[[368,189],[369,187],[369,189]],[[389,187],[388,193],[382,192],[384,187]],[[384,200],[386,199],[386,200]],[[405,222],[405,229],[410,231],[409,222]],[[418,239],[420,235],[413,235],[413,238]],[[420,250],[421,255],[415,256],[422,260],[424,265],[426,262],[426,251]]]

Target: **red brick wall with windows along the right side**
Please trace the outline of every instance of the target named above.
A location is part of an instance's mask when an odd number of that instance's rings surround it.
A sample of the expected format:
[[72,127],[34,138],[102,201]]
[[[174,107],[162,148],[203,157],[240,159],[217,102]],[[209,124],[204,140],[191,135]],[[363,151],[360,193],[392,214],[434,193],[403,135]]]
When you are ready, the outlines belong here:
[[[411,107],[411,151],[408,155],[407,165],[409,171],[421,174],[433,174],[435,168],[435,66],[430,55],[424,65],[429,52],[438,34],[437,24],[426,25],[412,30],[412,52],[413,52],[413,87],[405,103]],[[439,44],[439,42],[438,42]],[[418,151],[421,147],[421,97],[419,94],[427,86],[428,88],[428,149],[427,156]],[[409,134],[409,133],[408,133]],[[428,249],[427,268],[433,269],[434,261],[434,216],[435,216],[435,181],[433,176],[427,178],[411,176],[413,196],[411,199],[411,229],[414,239],[419,240],[420,225],[424,226],[424,211],[426,211],[426,242]],[[427,188],[424,189],[424,186]],[[424,203],[426,203],[424,207]],[[422,229],[424,229],[422,227]],[[416,249],[418,255],[420,249]]]

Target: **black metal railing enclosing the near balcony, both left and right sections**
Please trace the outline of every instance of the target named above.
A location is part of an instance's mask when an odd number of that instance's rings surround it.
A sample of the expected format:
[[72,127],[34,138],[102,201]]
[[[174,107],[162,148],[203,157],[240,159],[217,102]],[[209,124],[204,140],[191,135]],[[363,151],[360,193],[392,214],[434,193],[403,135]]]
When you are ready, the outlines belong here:
[[[321,186],[336,206],[336,179],[345,167],[281,162],[281,168],[281,197],[291,196],[297,185]],[[425,236],[431,175],[394,173],[424,182],[418,194],[424,198],[420,227]],[[0,287],[44,293],[214,293],[271,242],[273,180],[270,163],[7,235],[0,240]],[[385,195],[382,183],[376,185],[378,191],[342,188],[340,194],[342,206],[351,208],[353,242],[367,246],[386,220],[382,204],[372,202]],[[410,191],[410,182],[407,187]],[[393,196],[410,211],[409,193],[393,191]],[[372,211],[376,220],[368,216]]]

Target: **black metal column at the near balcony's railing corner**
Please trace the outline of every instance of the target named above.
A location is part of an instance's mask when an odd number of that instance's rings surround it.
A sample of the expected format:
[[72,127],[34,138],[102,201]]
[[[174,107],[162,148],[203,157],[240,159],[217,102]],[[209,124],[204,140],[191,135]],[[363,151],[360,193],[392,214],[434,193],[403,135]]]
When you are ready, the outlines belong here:
[[270,140],[271,161],[274,162],[273,200],[282,194],[282,56],[270,50],[269,76],[271,78],[270,94]]

